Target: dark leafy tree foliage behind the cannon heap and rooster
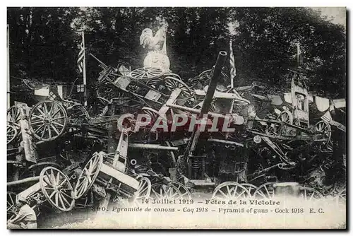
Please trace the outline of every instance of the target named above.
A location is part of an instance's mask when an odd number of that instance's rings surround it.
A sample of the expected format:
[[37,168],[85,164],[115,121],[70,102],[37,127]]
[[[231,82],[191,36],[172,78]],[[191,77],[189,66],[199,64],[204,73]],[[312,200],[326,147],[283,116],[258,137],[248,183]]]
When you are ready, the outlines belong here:
[[[184,80],[210,69],[220,50],[229,51],[232,38],[236,84],[283,85],[287,68],[297,66],[299,43],[310,90],[345,96],[345,28],[310,8],[8,8],[11,76],[72,82],[80,76],[80,30],[88,54],[136,69],[146,53],[139,35],[144,28],[155,33],[156,18],[167,20],[171,69]],[[87,57],[90,83],[100,71],[97,65]]]

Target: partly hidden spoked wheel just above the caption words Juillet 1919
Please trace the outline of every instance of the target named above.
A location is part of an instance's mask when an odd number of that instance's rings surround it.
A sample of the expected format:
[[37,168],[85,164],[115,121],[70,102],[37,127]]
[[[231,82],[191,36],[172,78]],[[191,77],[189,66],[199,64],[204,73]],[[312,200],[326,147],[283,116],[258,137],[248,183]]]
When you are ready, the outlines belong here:
[[151,198],[156,200],[162,199],[181,199],[181,191],[173,184],[155,183],[151,186]]

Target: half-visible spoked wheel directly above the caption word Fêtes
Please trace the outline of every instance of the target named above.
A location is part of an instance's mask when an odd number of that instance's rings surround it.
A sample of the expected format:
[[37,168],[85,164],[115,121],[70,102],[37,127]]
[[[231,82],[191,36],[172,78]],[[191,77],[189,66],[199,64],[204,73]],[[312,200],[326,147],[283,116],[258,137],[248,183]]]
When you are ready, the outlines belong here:
[[215,188],[212,194],[212,199],[229,201],[249,198],[249,196],[249,191],[241,186],[241,184],[238,184],[237,182],[224,182]]

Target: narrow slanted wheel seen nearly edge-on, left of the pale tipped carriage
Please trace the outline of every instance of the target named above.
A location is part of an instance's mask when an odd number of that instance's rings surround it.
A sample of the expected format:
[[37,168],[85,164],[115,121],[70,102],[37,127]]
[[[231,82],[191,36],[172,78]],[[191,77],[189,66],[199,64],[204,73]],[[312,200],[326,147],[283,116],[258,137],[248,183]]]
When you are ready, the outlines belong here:
[[74,198],[79,199],[83,196],[92,184],[97,179],[98,174],[100,173],[100,168],[103,164],[103,155],[102,153],[94,153],[92,158],[88,161],[88,163],[83,167],[82,172],[78,176],[75,190],[74,190]]

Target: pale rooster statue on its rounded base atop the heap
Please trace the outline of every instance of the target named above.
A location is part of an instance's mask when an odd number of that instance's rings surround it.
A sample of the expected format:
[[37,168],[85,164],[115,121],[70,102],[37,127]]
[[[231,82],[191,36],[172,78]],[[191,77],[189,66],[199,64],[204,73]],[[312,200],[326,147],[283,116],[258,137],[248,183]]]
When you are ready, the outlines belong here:
[[170,62],[167,57],[166,32],[167,24],[164,24],[162,28],[157,30],[155,36],[153,36],[152,30],[149,28],[142,30],[140,45],[149,51],[143,61],[144,67],[156,67],[165,72],[169,71]]

